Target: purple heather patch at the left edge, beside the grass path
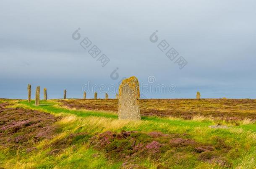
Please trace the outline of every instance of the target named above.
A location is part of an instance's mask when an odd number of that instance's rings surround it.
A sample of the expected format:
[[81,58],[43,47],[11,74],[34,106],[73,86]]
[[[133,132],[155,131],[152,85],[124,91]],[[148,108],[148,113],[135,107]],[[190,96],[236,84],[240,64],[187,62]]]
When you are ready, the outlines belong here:
[[57,129],[53,125],[57,117],[40,111],[23,108],[5,108],[0,104],[0,146],[13,151],[24,148],[35,151],[34,144],[42,139],[50,139]]

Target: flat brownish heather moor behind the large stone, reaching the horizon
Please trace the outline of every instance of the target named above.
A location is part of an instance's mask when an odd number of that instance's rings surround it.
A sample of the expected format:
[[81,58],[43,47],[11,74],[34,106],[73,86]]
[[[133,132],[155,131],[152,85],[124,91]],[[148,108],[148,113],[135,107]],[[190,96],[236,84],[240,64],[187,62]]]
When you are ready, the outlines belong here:
[[[60,100],[70,108],[118,111],[117,99],[70,99]],[[172,116],[193,119],[194,116],[212,116],[214,119],[256,119],[255,99],[142,99],[141,114],[144,116]]]

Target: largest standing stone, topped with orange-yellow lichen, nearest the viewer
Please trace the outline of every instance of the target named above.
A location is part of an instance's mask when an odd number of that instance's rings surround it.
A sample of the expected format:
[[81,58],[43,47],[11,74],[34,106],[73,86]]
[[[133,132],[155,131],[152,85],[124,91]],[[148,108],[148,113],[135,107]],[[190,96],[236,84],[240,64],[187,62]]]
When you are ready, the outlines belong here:
[[118,119],[141,120],[138,103],[140,91],[138,79],[135,76],[122,81],[118,98]]

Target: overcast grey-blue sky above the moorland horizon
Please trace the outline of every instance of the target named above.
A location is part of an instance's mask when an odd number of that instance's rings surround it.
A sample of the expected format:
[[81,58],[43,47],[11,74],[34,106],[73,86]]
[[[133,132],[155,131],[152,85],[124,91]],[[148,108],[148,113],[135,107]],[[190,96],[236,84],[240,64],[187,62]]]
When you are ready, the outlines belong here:
[[[26,98],[28,83],[33,98],[36,86],[41,96],[46,87],[48,98],[62,98],[64,89],[81,98],[88,81],[118,86],[130,76],[153,88],[175,86],[146,98],[195,98],[196,91],[202,98],[256,98],[255,17],[255,0],[1,0],[0,98]],[[163,52],[162,40],[170,45]],[[88,53],[93,45],[101,50],[96,58]],[[173,61],[165,55],[170,48],[179,53]],[[102,54],[110,59],[104,67]]]

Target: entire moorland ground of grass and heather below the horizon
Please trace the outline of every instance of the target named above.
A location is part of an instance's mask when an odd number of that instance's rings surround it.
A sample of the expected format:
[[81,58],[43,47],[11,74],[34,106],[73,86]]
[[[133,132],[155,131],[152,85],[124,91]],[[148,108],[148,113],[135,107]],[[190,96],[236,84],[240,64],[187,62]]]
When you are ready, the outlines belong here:
[[118,101],[0,100],[0,167],[256,167],[256,100],[141,100],[141,121]]

